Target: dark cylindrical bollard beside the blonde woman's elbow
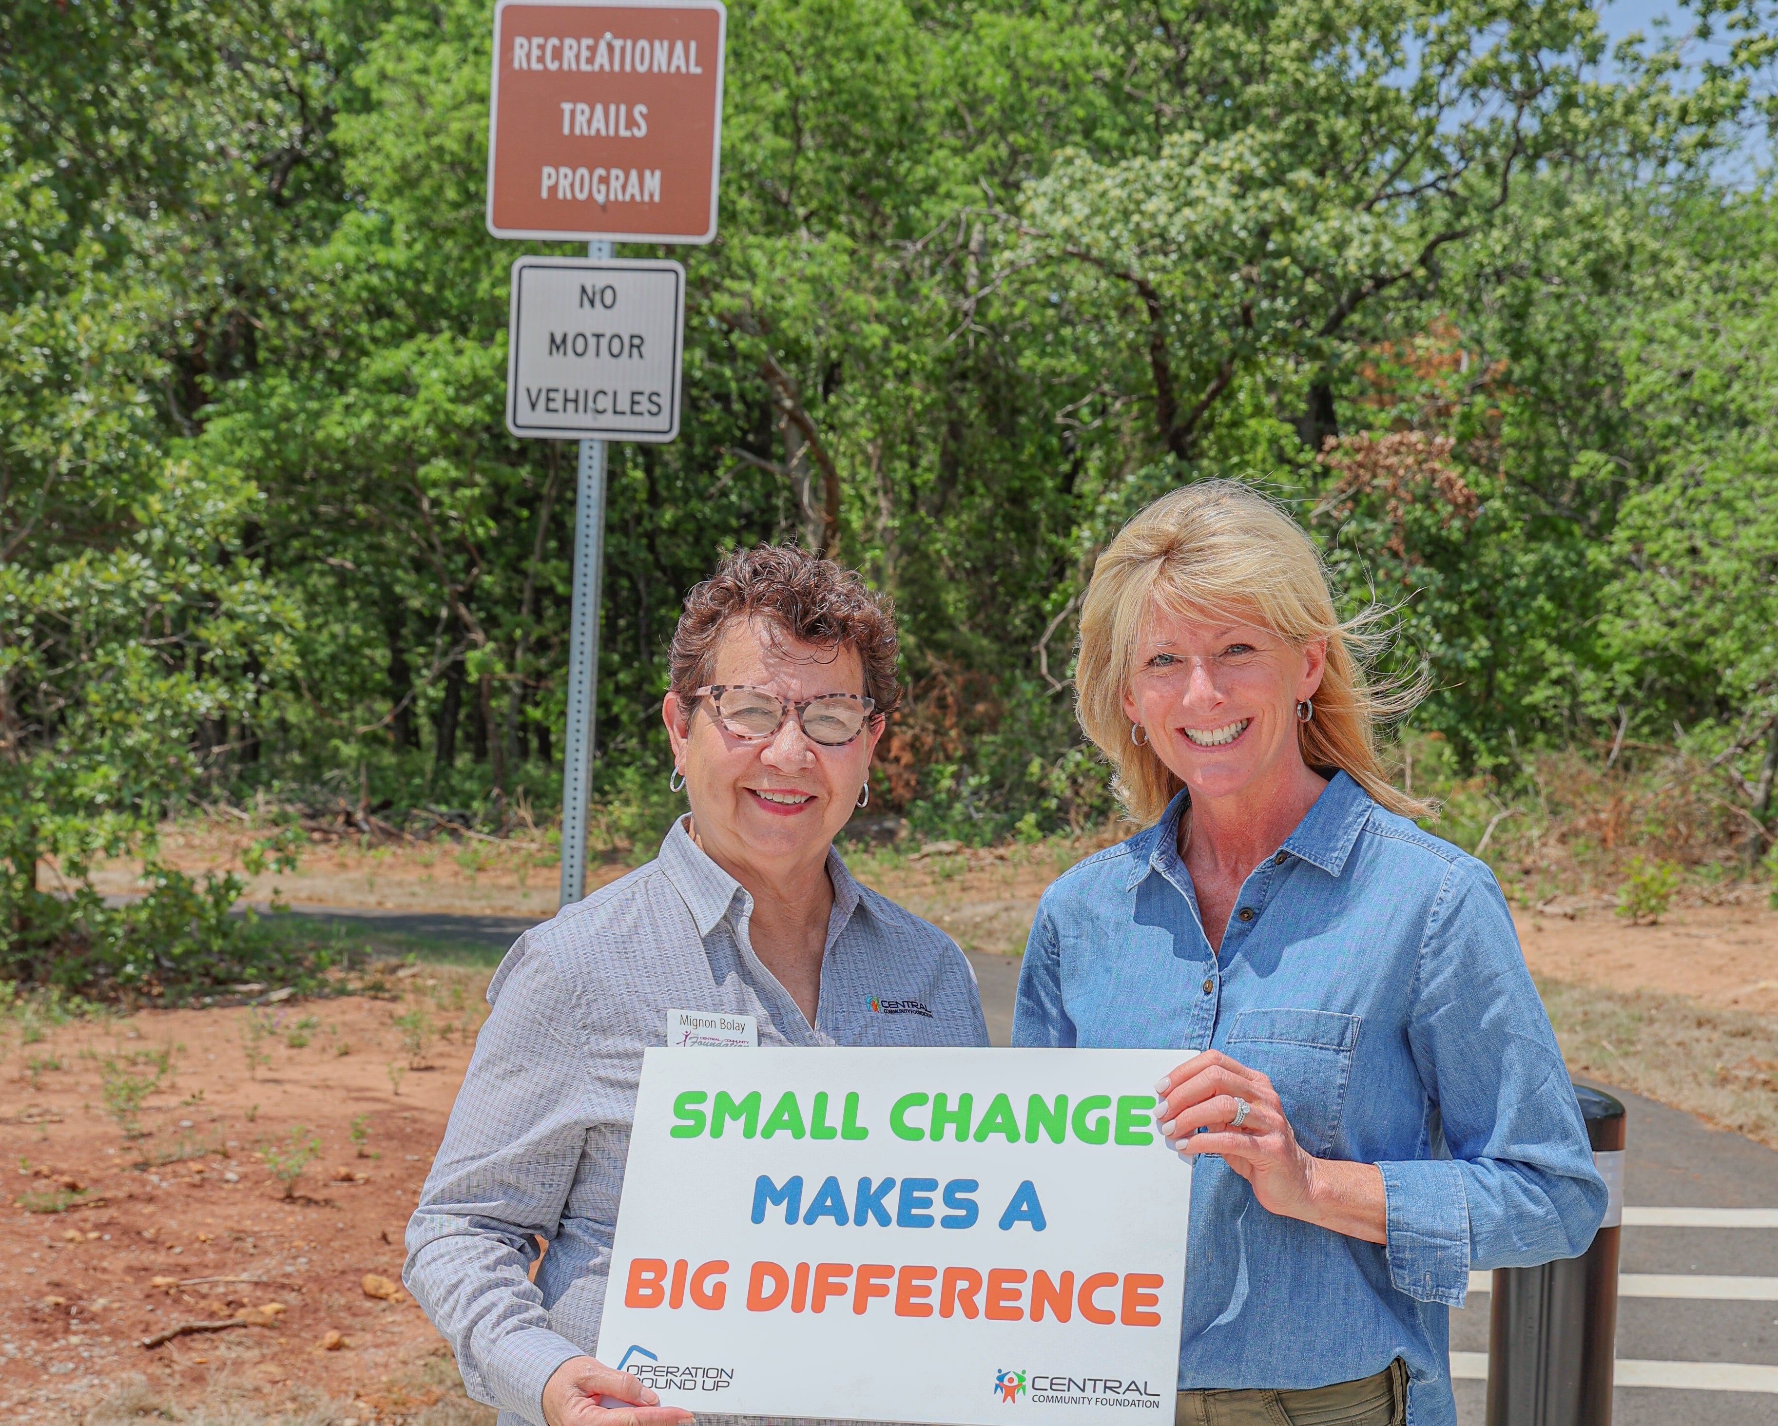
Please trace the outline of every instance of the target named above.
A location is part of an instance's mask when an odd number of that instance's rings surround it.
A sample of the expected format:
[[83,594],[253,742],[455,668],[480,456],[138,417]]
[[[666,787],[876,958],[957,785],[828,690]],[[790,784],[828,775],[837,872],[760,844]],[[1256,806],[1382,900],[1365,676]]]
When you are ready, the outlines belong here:
[[1574,1086],[1611,1190],[1606,1222],[1581,1255],[1499,1268],[1488,1323],[1488,1426],[1611,1426],[1623,1232],[1623,1104]]

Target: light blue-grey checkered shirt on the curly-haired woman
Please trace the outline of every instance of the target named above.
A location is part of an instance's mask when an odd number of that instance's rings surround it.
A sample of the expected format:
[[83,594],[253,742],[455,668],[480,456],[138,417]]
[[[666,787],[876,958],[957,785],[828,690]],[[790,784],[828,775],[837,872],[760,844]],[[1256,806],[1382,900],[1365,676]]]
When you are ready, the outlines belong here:
[[[752,896],[683,823],[660,857],[517,939],[407,1223],[402,1280],[501,1426],[592,1355],[642,1051],[669,1010],[754,1015],[761,1045],[985,1045],[981,997],[944,932],[829,852],[834,912],[811,1026],[749,941]],[[884,1013],[884,1003],[898,1013]],[[925,1013],[923,1013],[925,1012]],[[736,1051],[745,1053],[745,1051]],[[535,1236],[549,1243],[532,1284]]]

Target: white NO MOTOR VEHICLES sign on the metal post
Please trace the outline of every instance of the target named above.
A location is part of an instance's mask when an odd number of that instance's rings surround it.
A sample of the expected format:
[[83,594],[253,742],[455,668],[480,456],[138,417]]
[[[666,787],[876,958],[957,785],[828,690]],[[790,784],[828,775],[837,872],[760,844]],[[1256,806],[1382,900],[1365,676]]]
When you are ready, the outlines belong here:
[[519,258],[507,332],[507,430],[672,441],[683,343],[679,263]]

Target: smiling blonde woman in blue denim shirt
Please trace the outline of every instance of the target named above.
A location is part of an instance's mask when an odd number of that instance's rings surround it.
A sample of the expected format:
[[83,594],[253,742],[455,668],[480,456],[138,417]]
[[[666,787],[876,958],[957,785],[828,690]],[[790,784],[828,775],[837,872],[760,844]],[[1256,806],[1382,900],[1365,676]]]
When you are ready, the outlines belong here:
[[1175,1421],[1454,1426],[1474,1268],[1574,1257],[1606,1213],[1488,868],[1422,832],[1314,544],[1229,480],[1093,569],[1079,718],[1145,825],[1044,894],[1017,1045],[1179,1047],[1193,1159]]

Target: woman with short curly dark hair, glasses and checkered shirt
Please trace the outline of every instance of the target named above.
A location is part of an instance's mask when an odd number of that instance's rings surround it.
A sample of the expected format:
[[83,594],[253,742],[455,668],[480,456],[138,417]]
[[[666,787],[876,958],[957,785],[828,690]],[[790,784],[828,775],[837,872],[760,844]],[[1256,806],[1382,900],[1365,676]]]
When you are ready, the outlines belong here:
[[690,1419],[592,1355],[642,1051],[686,1044],[683,1012],[731,1044],[989,1042],[957,942],[834,852],[898,699],[889,603],[802,549],[736,549],[686,596],[670,683],[690,816],[507,953],[407,1225],[404,1280],[503,1426]]

